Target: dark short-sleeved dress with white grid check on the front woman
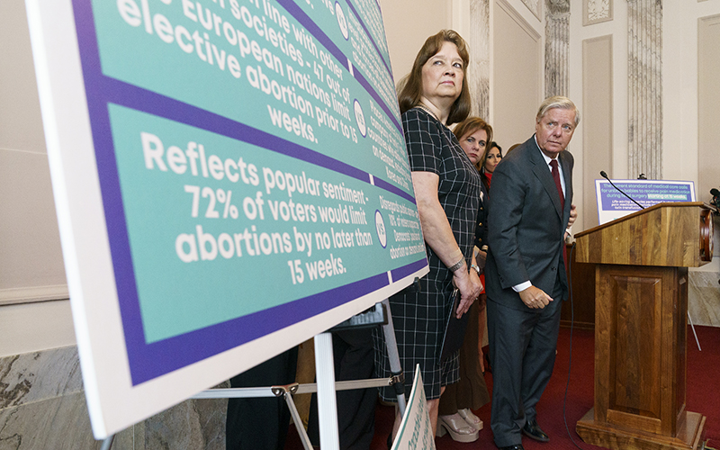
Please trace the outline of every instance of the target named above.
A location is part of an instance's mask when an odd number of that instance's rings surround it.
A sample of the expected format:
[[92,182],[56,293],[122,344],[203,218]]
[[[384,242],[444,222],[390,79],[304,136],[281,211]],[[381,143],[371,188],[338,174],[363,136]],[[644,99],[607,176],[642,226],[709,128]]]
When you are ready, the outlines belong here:
[[[480,203],[481,178],[455,135],[428,112],[413,108],[402,114],[402,127],[410,157],[410,170],[432,172],[440,177],[437,196],[446,211],[455,240],[468,266]],[[440,387],[460,379],[457,352],[440,364],[440,346],[450,309],[453,274],[427,247],[430,273],[390,298],[392,322],[398,341],[405,394],[410,395],[415,365],[420,365],[428,400],[440,397]],[[375,333],[375,371],[391,374],[382,331]],[[391,388],[382,388],[384,401],[396,401]]]

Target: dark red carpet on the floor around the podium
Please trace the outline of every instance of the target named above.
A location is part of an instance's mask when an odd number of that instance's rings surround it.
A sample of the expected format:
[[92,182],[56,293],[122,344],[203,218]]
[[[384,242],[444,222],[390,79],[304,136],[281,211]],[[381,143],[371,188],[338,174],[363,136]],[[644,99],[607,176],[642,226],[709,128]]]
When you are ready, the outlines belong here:
[[[687,409],[707,416],[707,446],[720,448],[720,383],[717,369],[720,367],[720,328],[696,327],[702,352],[698,351],[691,329],[688,329],[688,398]],[[565,417],[570,436],[582,449],[599,449],[582,442],[575,433],[575,423],[592,408],[594,391],[594,335],[592,331],[573,330],[572,332],[572,373],[567,392]],[[553,378],[545,390],[543,399],[537,405],[537,417],[541,427],[550,436],[549,443],[537,443],[523,439],[527,450],[565,450],[576,449],[565,428],[563,420],[563,399],[568,380],[570,359],[570,329],[561,329],[558,339],[558,355]],[[488,388],[492,387],[492,375],[485,374]],[[480,417],[485,428],[480,438],[469,444],[453,441],[446,435],[436,439],[438,450],[495,449],[492,442],[490,424],[490,404],[483,406],[475,414]],[[385,450],[385,441],[392,428],[392,408],[378,405],[375,414],[375,437],[371,450]],[[294,436],[293,436],[294,435]],[[286,450],[302,450],[302,444],[294,429],[288,438]]]

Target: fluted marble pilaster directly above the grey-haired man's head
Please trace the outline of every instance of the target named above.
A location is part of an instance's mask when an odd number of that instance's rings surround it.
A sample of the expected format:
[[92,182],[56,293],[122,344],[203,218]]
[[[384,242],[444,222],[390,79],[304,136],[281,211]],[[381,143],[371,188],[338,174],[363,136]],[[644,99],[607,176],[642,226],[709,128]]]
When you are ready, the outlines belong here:
[[567,95],[570,0],[545,1],[545,97]]

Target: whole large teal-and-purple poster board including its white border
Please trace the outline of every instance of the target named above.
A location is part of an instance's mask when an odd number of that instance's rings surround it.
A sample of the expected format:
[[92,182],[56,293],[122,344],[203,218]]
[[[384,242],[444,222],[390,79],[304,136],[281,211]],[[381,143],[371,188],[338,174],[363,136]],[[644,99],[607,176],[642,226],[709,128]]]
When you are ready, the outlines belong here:
[[372,0],[28,0],[107,437],[425,275]]

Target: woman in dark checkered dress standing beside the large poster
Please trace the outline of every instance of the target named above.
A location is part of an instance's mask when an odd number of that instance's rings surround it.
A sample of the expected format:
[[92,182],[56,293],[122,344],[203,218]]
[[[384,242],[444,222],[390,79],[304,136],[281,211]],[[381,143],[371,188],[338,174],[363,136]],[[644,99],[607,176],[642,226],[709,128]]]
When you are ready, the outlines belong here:
[[[390,298],[406,395],[415,365],[420,365],[433,431],[444,386],[459,379],[457,352],[438,362],[443,330],[454,285],[461,302],[455,313],[468,311],[482,284],[474,269],[473,233],[481,179],[477,169],[446,125],[470,112],[465,80],[469,60],[465,42],[455,31],[440,31],[426,40],[399,95],[402,126],[410,158],[420,224],[428,249],[430,273]],[[473,268],[471,268],[473,266]],[[379,376],[390,376],[381,335],[376,340]],[[383,389],[385,401],[395,401]],[[400,418],[396,417],[392,436]]]

